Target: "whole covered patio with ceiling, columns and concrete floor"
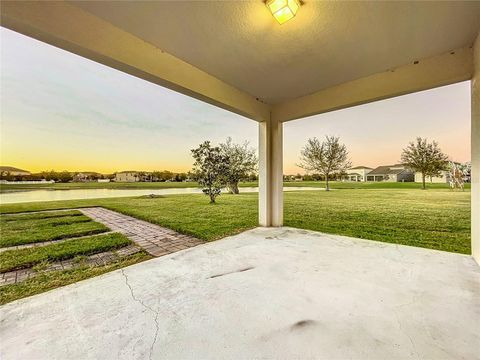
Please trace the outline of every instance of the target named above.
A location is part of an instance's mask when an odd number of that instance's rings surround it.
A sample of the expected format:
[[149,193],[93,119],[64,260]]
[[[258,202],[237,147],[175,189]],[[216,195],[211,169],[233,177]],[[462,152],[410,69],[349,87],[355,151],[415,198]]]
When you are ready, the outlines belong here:
[[[258,122],[260,158],[258,229],[3,306],[2,358],[480,359],[480,3],[4,1],[1,26]],[[283,123],[466,80],[472,256],[282,227]]]

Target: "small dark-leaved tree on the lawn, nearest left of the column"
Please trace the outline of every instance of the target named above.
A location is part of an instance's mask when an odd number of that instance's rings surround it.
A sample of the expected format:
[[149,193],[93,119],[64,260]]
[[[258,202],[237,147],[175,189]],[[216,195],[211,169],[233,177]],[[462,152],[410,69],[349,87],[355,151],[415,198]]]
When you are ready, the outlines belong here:
[[210,141],[203,142],[191,151],[195,160],[193,164],[195,179],[203,186],[203,193],[210,197],[210,203],[214,203],[222,187],[226,185],[228,157],[219,147],[211,147]]

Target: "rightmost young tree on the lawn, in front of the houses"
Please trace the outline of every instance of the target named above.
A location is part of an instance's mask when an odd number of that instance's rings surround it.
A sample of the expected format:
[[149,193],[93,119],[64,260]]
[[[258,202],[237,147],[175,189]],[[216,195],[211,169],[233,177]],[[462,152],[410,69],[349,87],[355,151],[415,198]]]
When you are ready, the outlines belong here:
[[427,139],[417,137],[403,149],[402,163],[422,173],[422,189],[425,190],[427,176],[439,176],[448,167],[448,156],[442,153],[436,141],[429,143]]

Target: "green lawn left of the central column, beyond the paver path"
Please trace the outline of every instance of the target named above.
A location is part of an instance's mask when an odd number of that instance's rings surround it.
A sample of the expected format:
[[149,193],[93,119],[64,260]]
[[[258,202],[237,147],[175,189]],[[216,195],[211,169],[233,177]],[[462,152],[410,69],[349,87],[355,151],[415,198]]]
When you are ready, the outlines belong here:
[[257,226],[257,195],[222,195],[210,205],[203,194],[0,205],[0,213],[104,206],[205,240]]

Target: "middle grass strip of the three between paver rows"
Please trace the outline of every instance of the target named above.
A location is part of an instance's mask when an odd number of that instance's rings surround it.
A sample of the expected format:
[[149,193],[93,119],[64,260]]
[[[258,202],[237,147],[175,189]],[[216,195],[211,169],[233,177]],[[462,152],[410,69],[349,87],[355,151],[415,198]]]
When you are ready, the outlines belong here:
[[35,265],[92,255],[130,245],[131,241],[118,233],[71,239],[64,242],[0,253],[0,272],[30,268]]

